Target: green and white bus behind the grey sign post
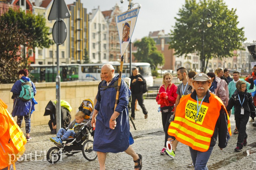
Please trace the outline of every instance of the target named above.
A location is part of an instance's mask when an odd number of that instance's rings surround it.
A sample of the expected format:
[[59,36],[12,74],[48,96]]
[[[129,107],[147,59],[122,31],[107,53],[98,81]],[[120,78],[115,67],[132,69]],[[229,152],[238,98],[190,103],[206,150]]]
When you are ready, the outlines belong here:
[[[33,82],[55,82],[57,65],[30,64]],[[60,64],[60,81],[78,80],[79,64]]]

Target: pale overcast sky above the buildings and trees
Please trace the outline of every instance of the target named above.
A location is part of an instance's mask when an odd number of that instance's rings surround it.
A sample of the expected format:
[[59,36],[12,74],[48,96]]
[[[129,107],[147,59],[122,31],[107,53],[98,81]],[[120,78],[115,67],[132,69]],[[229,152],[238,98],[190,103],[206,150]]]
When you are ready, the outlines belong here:
[[[116,3],[121,6],[122,11],[126,11],[129,1],[123,1],[123,4],[121,4],[120,0],[81,0],[88,13],[92,9],[98,8],[98,6],[100,6],[101,11],[111,10]],[[247,41],[256,41],[256,24],[254,23],[256,0],[224,1],[228,5],[228,9],[236,8],[239,21],[238,28],[244,27]],[[66,4],[72,4],[74,0],[65,0],[65,2]],[[132,35],[133,40],[148,36],[150,31],[164,30],[165,33],[170,33],[175,25],[174,17],[177,16],[182,4],[185,4],[185,0],[132,0],[132,2],[141,4]],[[137,4],[134,5],[134,7],[137,6]]]

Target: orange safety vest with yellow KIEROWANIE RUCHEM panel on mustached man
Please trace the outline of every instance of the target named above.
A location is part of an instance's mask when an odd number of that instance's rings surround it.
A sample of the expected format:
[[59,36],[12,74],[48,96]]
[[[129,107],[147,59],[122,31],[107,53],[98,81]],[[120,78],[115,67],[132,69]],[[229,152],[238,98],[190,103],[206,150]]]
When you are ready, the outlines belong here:
[[[199,105],[201,101],[198,102]],[[190,146],[192,149],[206,152],[211,143],[216,122],[220,115],[221,106],[226,111],[222,101],[216,95],[210,93],[209,103],[203,102],[198,114],[197,101],[186,95],[180,99],[176,108],[174,121],[168,128],[168,134],[174,136],[178,141]],[[226,111],[228,116],[228,113]],[[231,127],[228,117],[228,131],[231,136]]]

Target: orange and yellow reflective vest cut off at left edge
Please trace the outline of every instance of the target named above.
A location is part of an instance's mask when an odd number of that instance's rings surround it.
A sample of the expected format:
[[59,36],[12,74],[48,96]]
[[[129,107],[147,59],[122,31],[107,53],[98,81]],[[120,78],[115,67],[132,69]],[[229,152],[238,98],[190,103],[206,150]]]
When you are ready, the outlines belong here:
[[[0,169],[14,164],[25,152],[26,137],[0,99]],[[15,168],[15,166],[14,166]]]

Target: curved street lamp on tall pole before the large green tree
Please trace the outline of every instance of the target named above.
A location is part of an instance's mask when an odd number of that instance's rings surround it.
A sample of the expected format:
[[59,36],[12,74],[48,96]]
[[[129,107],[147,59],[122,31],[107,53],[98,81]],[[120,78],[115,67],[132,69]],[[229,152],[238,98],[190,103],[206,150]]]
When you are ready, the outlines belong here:
[[[210,21],[210,18],[212,18],[212,11],[209,9],[204,9],[204,11],[207,11],[207,18],[209,19],[207,23],[207,27],[211,27],[212,23]],[[202,69],[201,71],[204,72],[204,11],[203,11],[203,23],[202,23]]]

